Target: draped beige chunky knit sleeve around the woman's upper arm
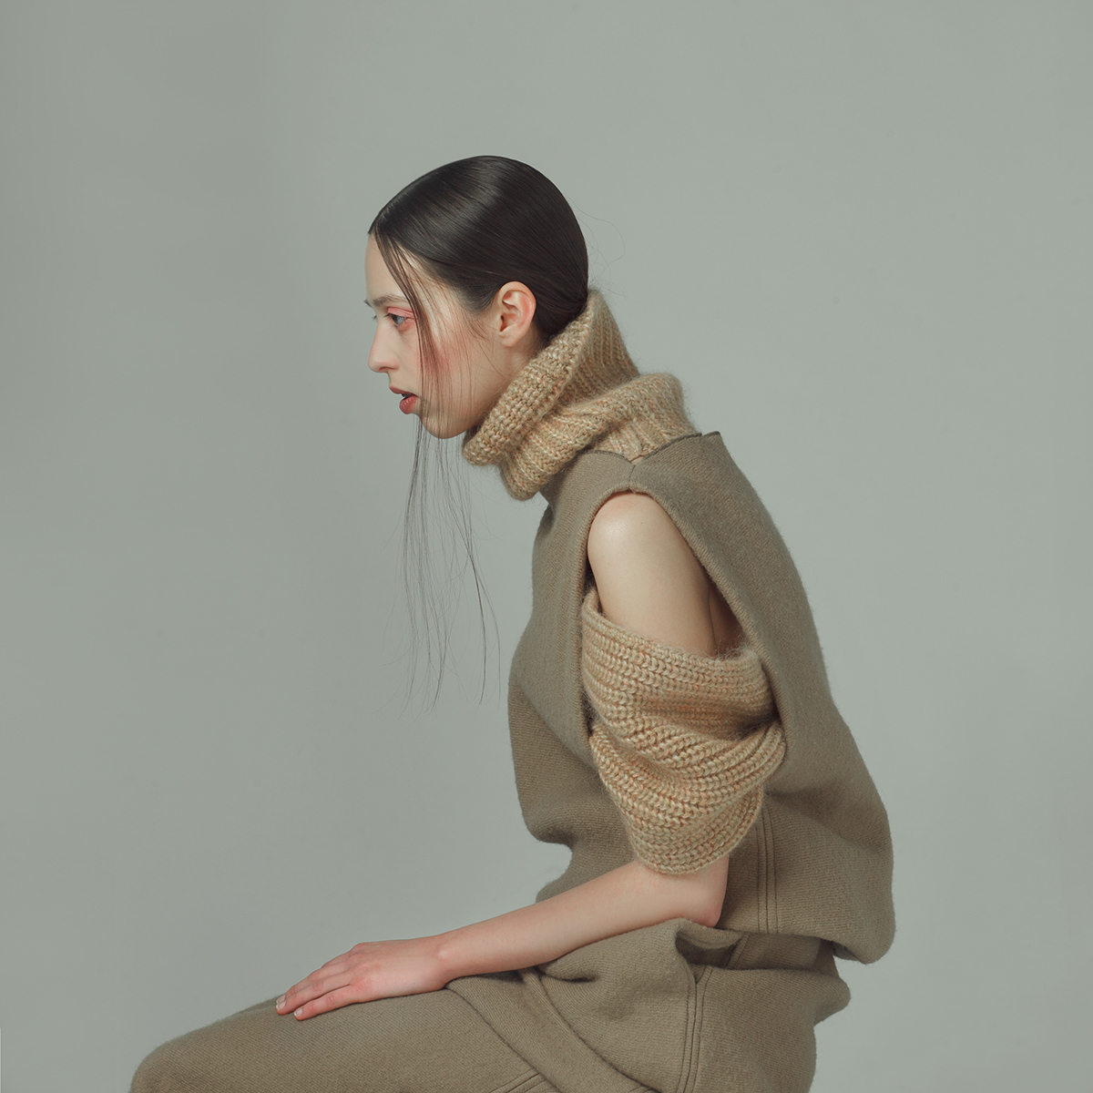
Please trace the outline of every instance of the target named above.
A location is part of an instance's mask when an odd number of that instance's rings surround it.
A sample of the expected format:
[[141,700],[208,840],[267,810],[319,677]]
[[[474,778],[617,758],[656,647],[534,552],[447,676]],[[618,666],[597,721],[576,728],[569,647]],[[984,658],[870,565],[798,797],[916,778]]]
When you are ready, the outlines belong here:
[[581,604],[592,755],[635,855],[661,873],[702,869],[748,833],[785,754],[766,673],[743,645],[671,648]]

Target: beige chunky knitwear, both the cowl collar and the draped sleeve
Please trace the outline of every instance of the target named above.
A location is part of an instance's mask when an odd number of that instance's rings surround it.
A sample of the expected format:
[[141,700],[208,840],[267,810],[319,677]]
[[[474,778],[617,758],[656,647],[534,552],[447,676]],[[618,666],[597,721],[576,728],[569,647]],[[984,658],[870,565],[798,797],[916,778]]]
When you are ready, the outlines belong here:
[[[599,293],[505,388],[463,455],[495,463],[532,496],[578,451],[636,461],[695,435],[679,380],[640,375]],[[719,657],[671,648],[607,619],[595,585],[581,604],[589,745],[634,854],[663,873],[701,869],[747,835],[785,754],[754,649]]]

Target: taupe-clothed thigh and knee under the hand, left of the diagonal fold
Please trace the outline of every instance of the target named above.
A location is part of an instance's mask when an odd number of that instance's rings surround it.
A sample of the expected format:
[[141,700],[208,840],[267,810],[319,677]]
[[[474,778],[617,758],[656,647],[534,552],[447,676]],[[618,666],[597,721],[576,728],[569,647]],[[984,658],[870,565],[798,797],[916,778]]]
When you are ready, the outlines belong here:
[[157,1047],[131,1093],[551,1093],[450,990],[306,1021],[259,1002]]

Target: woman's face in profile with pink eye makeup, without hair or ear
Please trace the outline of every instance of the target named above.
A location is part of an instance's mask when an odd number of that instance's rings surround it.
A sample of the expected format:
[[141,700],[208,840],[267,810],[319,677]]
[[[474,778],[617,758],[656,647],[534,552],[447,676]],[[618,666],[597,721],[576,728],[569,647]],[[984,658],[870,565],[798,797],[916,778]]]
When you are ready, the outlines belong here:
[[[512,360],[503,342],[491,337],[490,322],[468,315],[450,291],[434,282],[430,295],[436,307],[430,318],[440,375],[430,377],[425,390],[414,314],[372,236],[364,252],[364,272],[367,304],[376,313],[368,367],[385,375],[388,387],[399,396],[399,409],[416,414],[423,427],[442,439],[478,425],[526,355]],[[470,334],[457,336],[468,329]]]

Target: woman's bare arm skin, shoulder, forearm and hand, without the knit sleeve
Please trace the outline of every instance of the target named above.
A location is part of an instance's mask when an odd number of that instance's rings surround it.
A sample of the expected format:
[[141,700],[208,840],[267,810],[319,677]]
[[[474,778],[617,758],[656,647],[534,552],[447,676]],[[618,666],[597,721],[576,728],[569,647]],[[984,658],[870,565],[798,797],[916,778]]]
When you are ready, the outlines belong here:
[[[588,560],[603,614],[667,645],[713,655],[732,637],[712,586],[665,510],[616,494],[597,513]],[[719,597],[717,598],[719,599]],[[541,903],[431,938],[364,942],[292,987],[278,1012],[306,1019],[351,1002],[438,990],[451,979],[531,967],[603,938],[690,918],[714,926],[728,858],[693,873],[631,861]]]

